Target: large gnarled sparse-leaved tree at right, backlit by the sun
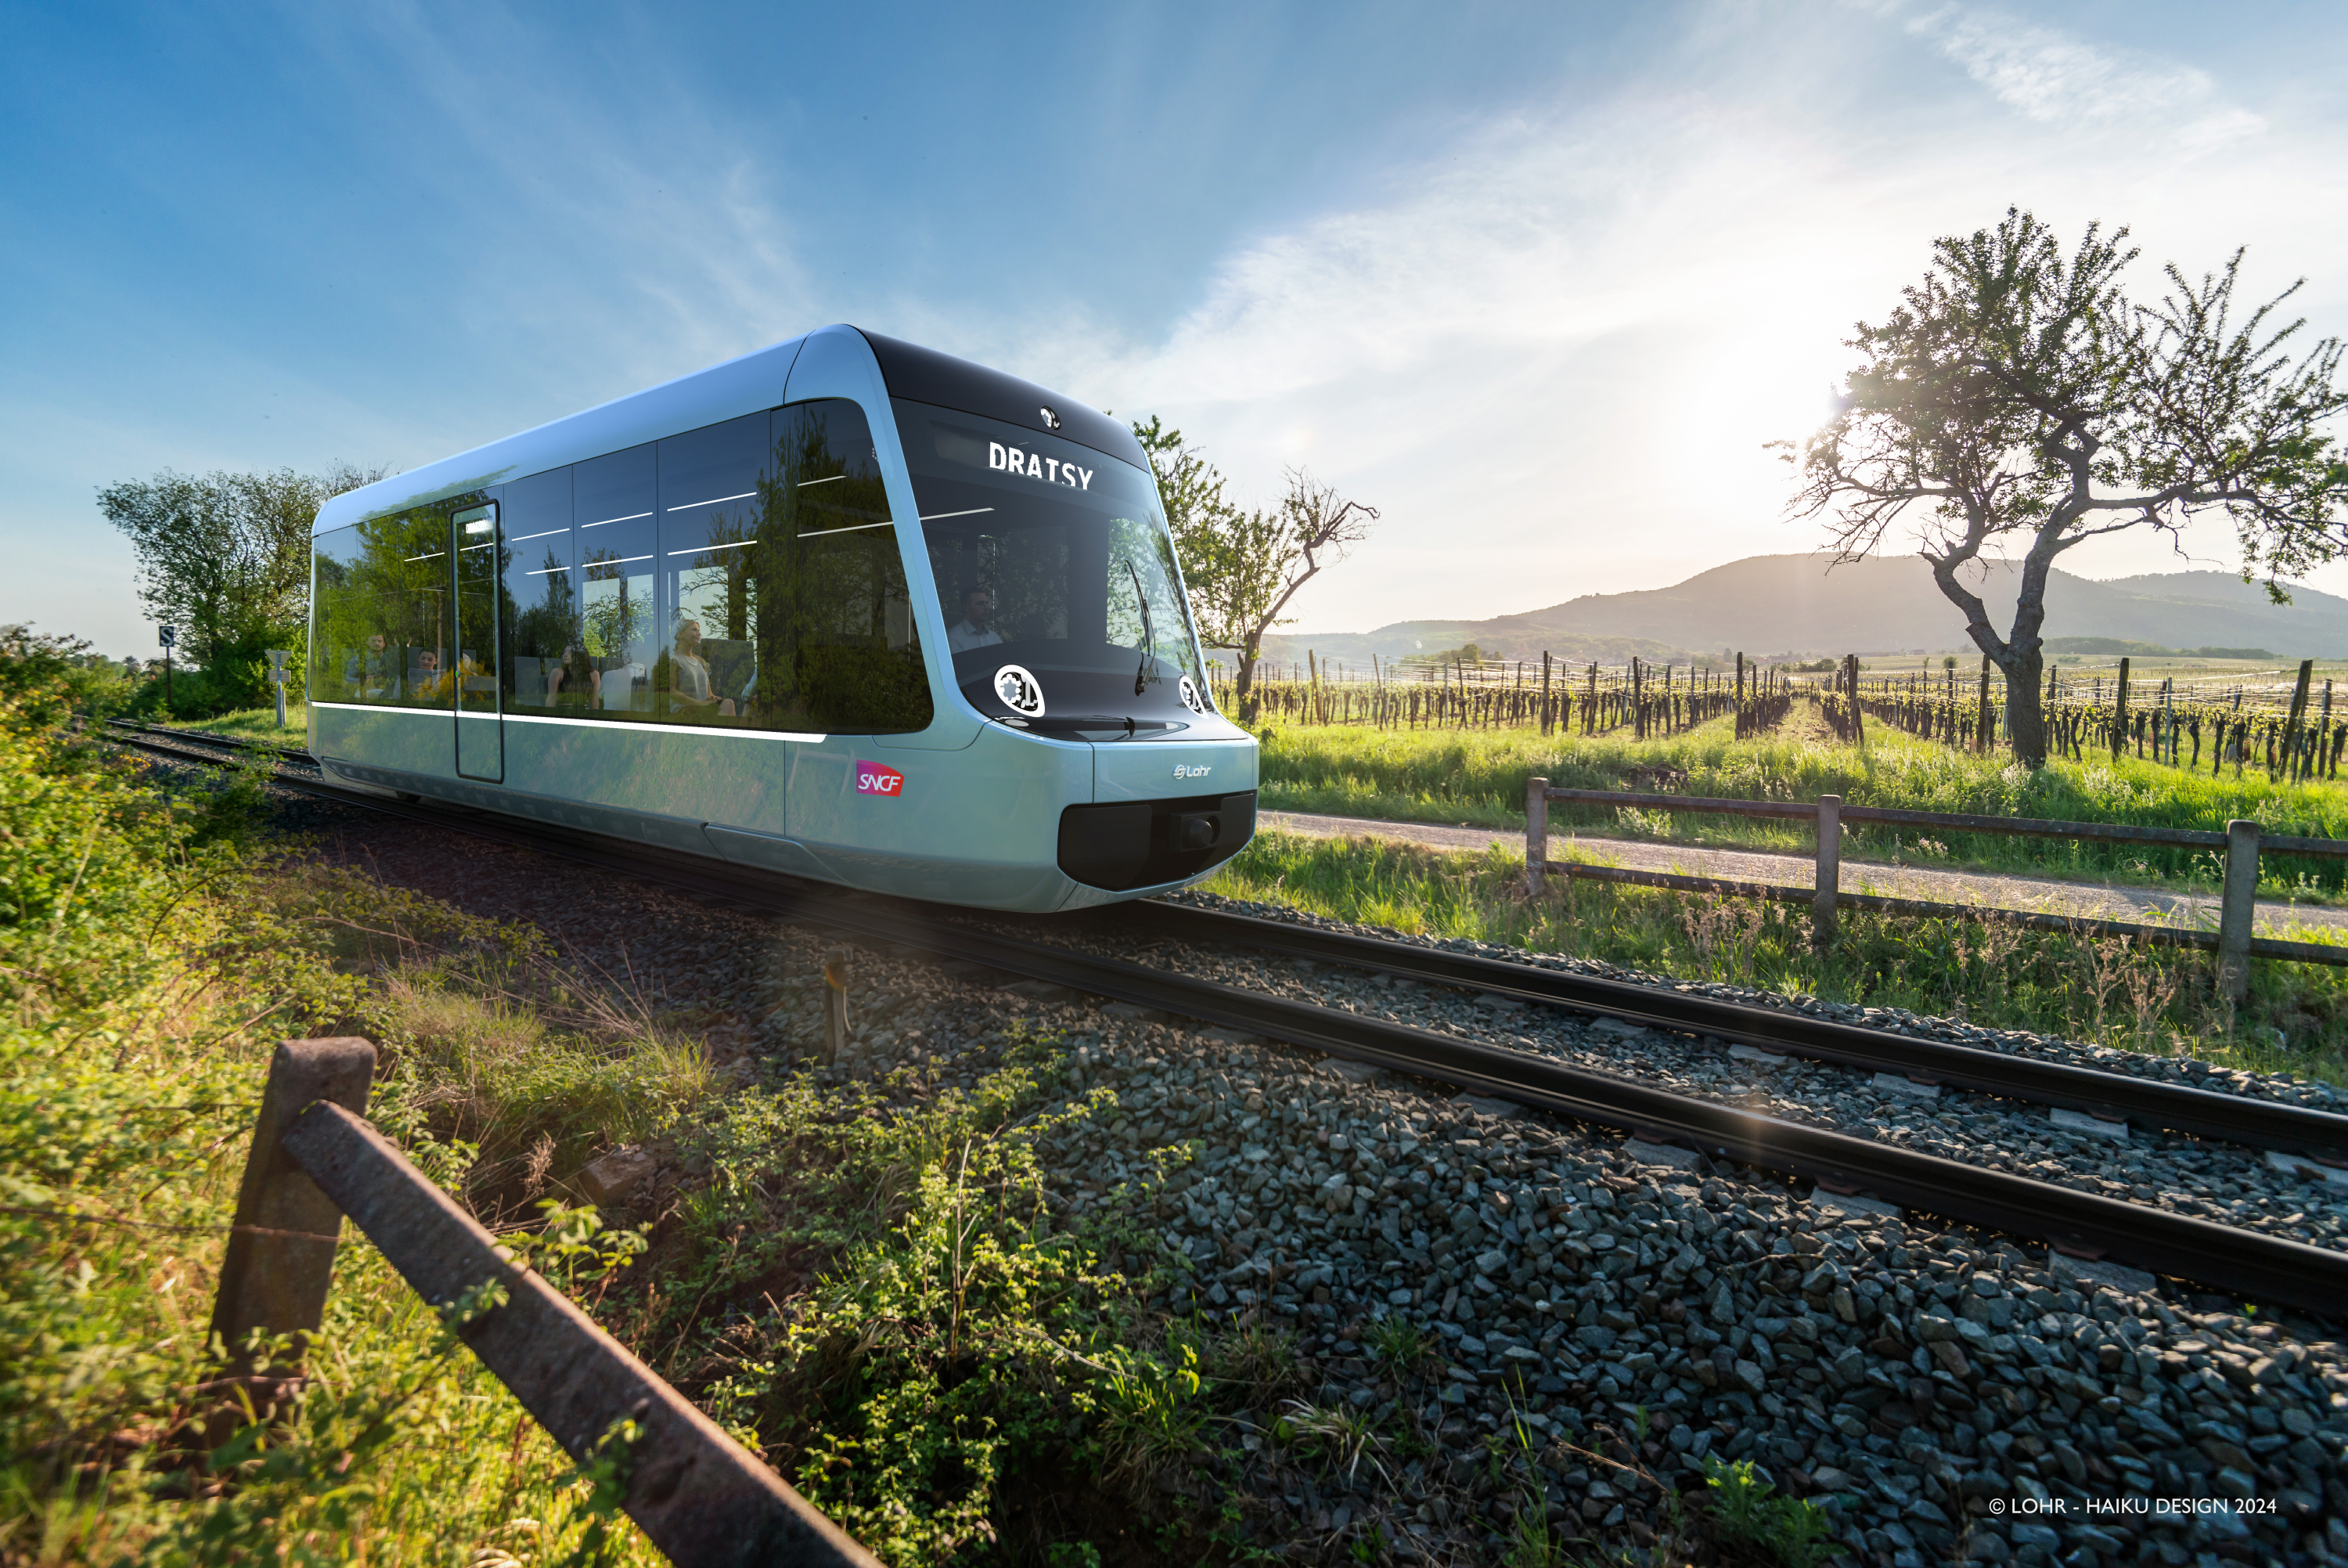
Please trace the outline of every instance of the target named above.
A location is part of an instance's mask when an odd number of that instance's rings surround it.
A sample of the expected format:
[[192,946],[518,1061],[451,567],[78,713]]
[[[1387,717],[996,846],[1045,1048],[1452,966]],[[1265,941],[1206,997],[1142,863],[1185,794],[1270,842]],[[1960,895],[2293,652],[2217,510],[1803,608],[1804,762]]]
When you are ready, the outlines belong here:
[[[2137,258],[2127,230],[2087,225],[2064,256],[2038,218],[2008,209],[1993,230],[1946,237],[1932,270],[1881,326],[1857,324],[1864,354],[1841,413],[1801,455],[1796,516],[1831,512],[1836,561],[1881,552],[1895,526],[1916,533],[1939,592],[1972,641],[2005,671],[2015,756],[2045,763],[2040,627],[2054,559],[2097,535],[2153,528],[2172,538],[2224,509],[2242,545],[2242,580],[2285,582],[2348,549],[2341,502],[2348,462],[2320,423],[2348,408],[2332,383],[2341,343],[2296,361],[2303,322],[2271,326],[2299,284],[2233,326],[2242,251],[2167,293],[2132,305],[2120,272]],[[2005,535],[2022,554],[2005,636],[1963,573]]]

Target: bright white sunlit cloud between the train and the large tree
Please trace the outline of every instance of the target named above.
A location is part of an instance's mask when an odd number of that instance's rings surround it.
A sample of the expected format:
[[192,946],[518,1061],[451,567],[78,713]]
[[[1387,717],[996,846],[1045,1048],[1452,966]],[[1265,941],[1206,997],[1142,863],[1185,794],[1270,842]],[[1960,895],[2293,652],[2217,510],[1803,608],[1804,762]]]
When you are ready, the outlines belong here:
[[[1890,307],[1937,235],[2022,202],[2064,228],[2202,244],[2177,218],[2245,181],[2174,136],[2109,134],[2160,103],[2224,124],[2238,110],[2205,73],[2000,26],[1935,12],[1907,35],[1965,59],[2019,122],[1860,131],[1848,110],[1787,110],[1752,80],[1799,70],[1803,40],[1756,61],[1747,38],[1735,75],[1660,63],[1601,101],[1468,129],[1392,171],[1383,202],[1256,237],[1158,340],[1080,324],[974,343],[965,324],[965,347],[1167,413],[1242,491],[1308,462],[1383,505],[1376,552],[1308,592],[1305,627],[1489,615],[1801,552],[1817,530],[1777,521],[1787,479],[1761,444],[1822,418],[1850,322]],[[2174,570],[2127,542],[2101,554]]]

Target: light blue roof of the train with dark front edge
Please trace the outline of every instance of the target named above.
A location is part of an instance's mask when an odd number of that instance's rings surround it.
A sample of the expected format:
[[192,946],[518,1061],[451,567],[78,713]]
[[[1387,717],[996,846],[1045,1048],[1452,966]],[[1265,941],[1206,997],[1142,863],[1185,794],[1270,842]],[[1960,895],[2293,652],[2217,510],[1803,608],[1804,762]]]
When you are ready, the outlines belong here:
[[[845,340],[843,340],[845,338]],[[1106,413],[1071,397],[1038,387],[1031,380],[991,371],[918,343],[883,338],[859,326],[824,326],[801,338],[787,338],[737,359],[664,380],[643,392],[615,397],[608,404],[549,420],[486,446],[441,458],[406,474],[348,491],[319,507],[315,530],[404,512],[446,495],[542,474],[566,462],[585,462],[603,453],[700,430],[744,413],[772,408],[789,399],[791,371],[801,354],[822,343],[826,350],[850,350],[878,369],[888,397],[916,404],[960,408],[1028,430],[1052,430],[1122,462],[1146,469],[1148,455],[1134,432]],[[810,359],[831,354],[810,354]],[[869,371],[866,371],[869,373]],[[829,380],[829,378],[826,378]],[[819,394],[836,394],[826,387]],[[1050,411],[1050,415],[1045,413]],[[1057,418],[1054,427],[1050,420]]]

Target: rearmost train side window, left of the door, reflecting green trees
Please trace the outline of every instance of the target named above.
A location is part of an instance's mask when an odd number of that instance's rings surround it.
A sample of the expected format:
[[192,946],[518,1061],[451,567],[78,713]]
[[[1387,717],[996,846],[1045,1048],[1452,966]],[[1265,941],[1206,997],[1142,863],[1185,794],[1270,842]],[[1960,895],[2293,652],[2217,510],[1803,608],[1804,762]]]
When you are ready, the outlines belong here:
[[376,516],[312,552],[310,699],[453,709],[448,512]]

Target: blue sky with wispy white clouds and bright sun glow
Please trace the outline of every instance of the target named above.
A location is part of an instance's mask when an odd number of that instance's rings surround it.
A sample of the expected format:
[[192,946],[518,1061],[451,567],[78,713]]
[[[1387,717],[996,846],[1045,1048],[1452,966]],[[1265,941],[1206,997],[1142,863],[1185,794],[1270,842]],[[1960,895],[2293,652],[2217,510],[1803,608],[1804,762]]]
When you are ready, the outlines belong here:
[[1305,631],[1806,549],[1761,441],[2008,202],[2348,333],[2348,14],[2212,16],[19,5],[0,620],[153,653],[103,484],[413,467],[824,322],[1378,505]]

